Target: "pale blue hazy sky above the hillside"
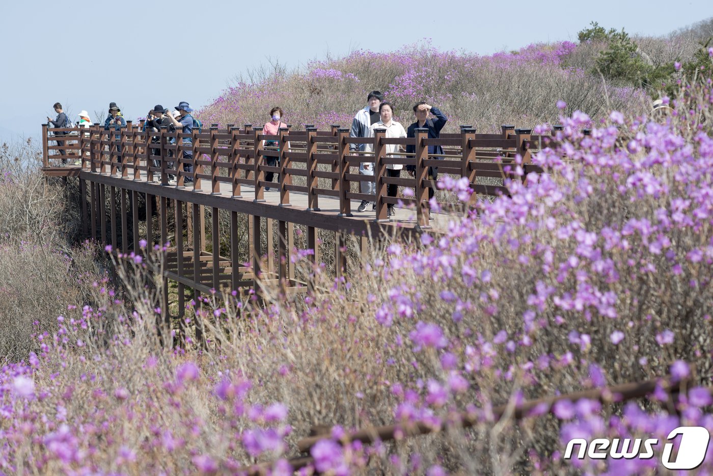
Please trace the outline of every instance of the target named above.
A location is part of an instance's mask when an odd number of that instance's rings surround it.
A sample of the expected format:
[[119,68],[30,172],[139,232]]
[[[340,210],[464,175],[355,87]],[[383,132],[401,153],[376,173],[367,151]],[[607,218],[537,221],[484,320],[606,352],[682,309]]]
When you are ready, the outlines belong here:
[[[491,54],[576,40],[598,21],[663,35],[713,16],[709,1],[38,1],[0,6],[0,139],[37,136],[52,105],[76,120],[116,101],[127,118],[155,103],[209,103],[247,69],[303,66],[355,49],[430,39]],[[103,119],[103,118],[102,118]]]

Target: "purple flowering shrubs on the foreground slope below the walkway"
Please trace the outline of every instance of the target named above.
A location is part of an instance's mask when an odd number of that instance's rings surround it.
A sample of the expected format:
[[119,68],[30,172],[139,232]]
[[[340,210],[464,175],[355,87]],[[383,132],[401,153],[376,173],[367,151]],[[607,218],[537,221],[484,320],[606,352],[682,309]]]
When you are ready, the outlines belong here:
[[[712,98],[708,81],[666,98],[669,116],[598,121],[553,103],[559,145],[532,158],[546,173],[516,167],[511,197],[479,202],[446,233],[387,240],[349,283],[317,265],[318,291],[303,298],[190,303],[205,349],[163,347],[173,334],[157,326],[160,285],[145,259],[120,258],[125,294],[98,281],[81,315],[59,316],[37,352],[1,369],[0,470],[210,475],[270,462],[289,474],[297,440],[327,425],[307,472],[662,471],[657,457],[570,462],[563,451],[573,437],[713,430]],[[440,187],[469,198],[465,181]],[[684,391],[513,418],[526,399],[662,375]],[[345,436],[392,422],[394,442]],[[406,438],[416,425],[434,432]]]

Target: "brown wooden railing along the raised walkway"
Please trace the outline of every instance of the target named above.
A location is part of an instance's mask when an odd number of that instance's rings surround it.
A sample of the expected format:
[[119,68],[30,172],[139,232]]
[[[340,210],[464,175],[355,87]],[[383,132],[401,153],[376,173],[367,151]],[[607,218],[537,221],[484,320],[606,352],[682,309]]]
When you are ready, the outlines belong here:
[[[53,136],[51,132],[67,131],[76,135]],[[387,219],[387,207],[399,201],[416,206],[419,226],[429,226],[429,167],[437,166],[439,174],[467,177],[476,193],[507,194],[504,182],[482,183],[481,178],[506,180],[514,178],[515,156],[522,158],[525,173],[540,171],[530,164],[533,148],[550,146],[553,136],[533,136],[530,129],[502,126],[500,134],[479,134],[475,128],[461,126],[461,133],[443,133],[440,138],[428,138],[426,129],[417,129],[414,138],[386,138],[377,130],[374,138],[349,137],[349,129],[332,126],[329,131],[317,131],[307,126],[304,131],[279,129],[279,136],[265,136],[262,128],[245,124],[242,128],[228,124],[219,129],[212,124],[205,130],[190,134],[180,132],[141,131],[131,121],[119,131],[105,131],[94,124],[90,128],[51,129],[43,126],[44,166],[67,165],[83,170],[109,173],[112,176],[148,181],[158,178],[169,185],[169,176],[177,178],[176,186],[195,190],[207,187],[220,193],[220,183],[230,183],[233,197],[242,198],[241,186],[251,186],[254,201],[265,200],[265,187],[279,190],[279,206],[290,206],[290,193],[302,192],[308,197],[308,210],[319,211],[319,198],[339,198],[339,216],[352,216],[352,200],[376,201],[376,220]],[[65,141],[63,146],[52,145]],[[264,141],[277,141],[279,147],[265,147]],[[371,144],[374,152],[353,152],[349,146]],[[415,153],[386,153],[386,146],[414,146]],[[429,146],[441,146],[443,154],[429,154]],[[66,155],[50,154],[63,149]],[[268,166],[265,157],[279,158],[277,166]],[[74,163],[76,162],[76,163]],[[356,173],[359,163],[374,164],[374,176]],[[413,166],[415,176],[386,176],[386,166]],[[265,181],[265,173],[275,173],[276,183]],[[190,183],[193,181],[193,183]],[[376,196],[354,191],[361,181],[376,183]],[[207,182],[207,186],[204,185]],[[388,185],[414,188],[413,197],[387,196]]]

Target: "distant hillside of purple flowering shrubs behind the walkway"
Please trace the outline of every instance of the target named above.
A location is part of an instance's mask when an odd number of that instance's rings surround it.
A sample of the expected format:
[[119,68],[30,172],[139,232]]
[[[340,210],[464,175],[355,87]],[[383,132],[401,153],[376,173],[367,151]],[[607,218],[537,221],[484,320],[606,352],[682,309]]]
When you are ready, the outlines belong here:
[[[391,53],[354,51],[341,59],[314,61],[304,74],[279,71],[261,81],[238,83],[198,115],[221,126],[263,124],[270,120],[270,108],[280,106],[284,120],[297,129],[307,123],[320,129],[349,126],[367,93],[377,89],[406,124],[414,120],[414,103],[438,106],[450,119],[446,132],[458,131],[459,124],[475,124],[487,133],[506,123],[525,127],[555,121],[553,104],[560,98],[570,104],[570,112],[580,109],[598,117],[606,91],[598,76],[568,66],[576,48],[562,41],[492,56],[438,51],[427,43]],[[639,89],[610,94],[609,101],[620,110],[645,107]]]

